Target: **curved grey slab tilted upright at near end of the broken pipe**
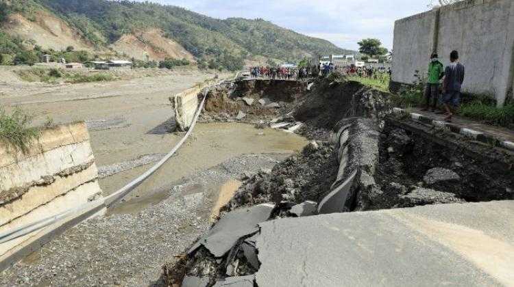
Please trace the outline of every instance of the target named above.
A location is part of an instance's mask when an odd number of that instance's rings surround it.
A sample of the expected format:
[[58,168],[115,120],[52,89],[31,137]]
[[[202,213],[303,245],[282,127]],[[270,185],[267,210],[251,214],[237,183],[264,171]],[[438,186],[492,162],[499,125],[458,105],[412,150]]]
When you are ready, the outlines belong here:
[[354,185],[354,179],[357,176],[357,170],[354,170],[347,180],[340,184],[332,192],[319,202],[318,213],[342,213],[345,210],[347,200],[351,197],[352,187]]

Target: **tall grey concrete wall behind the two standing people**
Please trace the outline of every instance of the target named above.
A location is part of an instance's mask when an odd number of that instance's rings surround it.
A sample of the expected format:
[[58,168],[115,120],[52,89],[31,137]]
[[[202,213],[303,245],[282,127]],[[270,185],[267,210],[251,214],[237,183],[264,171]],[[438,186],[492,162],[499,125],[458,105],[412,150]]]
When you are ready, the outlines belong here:
[[503,105],[513,86],[514,4],[511,0],[465,0],[397,20],[391,81],[426,77],[430,53],[443,64],[457,50],[466,67],[464,92],[489,94]]

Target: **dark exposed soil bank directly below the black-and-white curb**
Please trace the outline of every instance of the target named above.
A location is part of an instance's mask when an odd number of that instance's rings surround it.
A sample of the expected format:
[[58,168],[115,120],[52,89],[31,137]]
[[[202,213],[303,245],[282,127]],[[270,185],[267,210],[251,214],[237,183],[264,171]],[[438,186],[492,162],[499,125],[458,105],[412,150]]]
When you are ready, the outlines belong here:
[[[514,199],[513,156],[465,145],[450,134],[431,136],[386,124],[376,180],[389,200],[374,208],[412,206],[412,200],[424,205]],[[413,191],[419,193],[415,199]]]

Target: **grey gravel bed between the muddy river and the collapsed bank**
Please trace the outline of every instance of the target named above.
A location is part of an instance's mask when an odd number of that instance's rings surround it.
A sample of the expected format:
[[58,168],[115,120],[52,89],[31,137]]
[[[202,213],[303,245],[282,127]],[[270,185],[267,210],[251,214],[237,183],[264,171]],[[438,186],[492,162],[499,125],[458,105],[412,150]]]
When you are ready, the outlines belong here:
[[286,156],[238,156],[173,184],[167,199],[139,213],[83,222],[4,271],[0,286],[162,286],[162,265],[208,231],[213,187]]

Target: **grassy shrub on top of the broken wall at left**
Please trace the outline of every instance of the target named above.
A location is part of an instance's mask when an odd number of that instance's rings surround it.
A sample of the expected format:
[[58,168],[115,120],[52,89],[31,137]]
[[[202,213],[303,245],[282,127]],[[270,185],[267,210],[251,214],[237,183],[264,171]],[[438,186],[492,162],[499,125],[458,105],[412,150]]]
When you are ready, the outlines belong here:
[[32,140],[39,136],[37,128],[31,127],[32,116],[16,107],[9,114],[0,107],[0,140],[26,152]]

